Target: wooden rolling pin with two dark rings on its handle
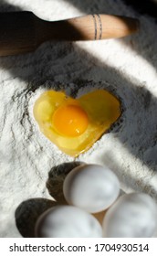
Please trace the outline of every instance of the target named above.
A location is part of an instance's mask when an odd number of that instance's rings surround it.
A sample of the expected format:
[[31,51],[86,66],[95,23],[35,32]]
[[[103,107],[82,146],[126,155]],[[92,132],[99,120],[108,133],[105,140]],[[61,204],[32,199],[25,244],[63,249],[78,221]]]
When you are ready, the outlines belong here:
[[135,18],[88,15],[49,22],[31,12],[0,13],[0,56],[35,50],[47,40],[99,40],[125,37],[139,27]]

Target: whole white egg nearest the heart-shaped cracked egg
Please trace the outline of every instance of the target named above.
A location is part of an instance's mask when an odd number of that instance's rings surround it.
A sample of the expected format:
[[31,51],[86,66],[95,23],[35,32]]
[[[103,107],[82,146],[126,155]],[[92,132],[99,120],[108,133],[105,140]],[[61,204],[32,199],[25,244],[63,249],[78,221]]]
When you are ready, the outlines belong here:
[[117,176],[101,165],[75,167],[63,183],[63,194],[69,205],[96,213],[109,208],[120,193]]

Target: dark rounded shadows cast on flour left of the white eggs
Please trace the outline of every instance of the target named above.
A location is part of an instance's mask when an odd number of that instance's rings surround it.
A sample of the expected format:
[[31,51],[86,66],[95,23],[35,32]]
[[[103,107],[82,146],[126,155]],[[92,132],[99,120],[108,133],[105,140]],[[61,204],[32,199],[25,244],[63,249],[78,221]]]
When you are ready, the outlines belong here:
[[15,213],[16,228],[25,238],[35,237],[35,227],[37,219],[48,208],[58,205],[67,205],[63,196],[63,181],[68,173],[82,162],[69,162],[61,165],[53,166],[48,173],[46,187],[49,195],[55,199],[46,198],[30,198],[23,201],[17,208]]

